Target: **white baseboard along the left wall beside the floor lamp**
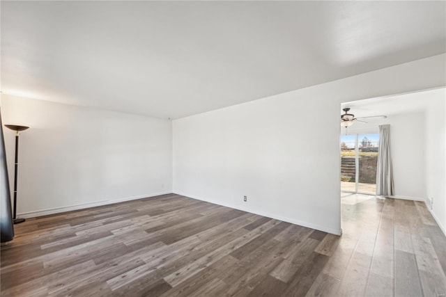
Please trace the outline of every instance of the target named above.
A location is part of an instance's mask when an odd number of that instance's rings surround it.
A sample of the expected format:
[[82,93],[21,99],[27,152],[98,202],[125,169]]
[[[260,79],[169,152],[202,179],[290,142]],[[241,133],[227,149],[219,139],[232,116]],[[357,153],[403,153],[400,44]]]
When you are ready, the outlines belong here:
[[148,195],[139,195],[139,196],[126,197],[126,198],[120,198],[120,199],[115,199],[115,200],[101,200],[101,201],[95,201],[95,202],[86,202],[86,203],[81,203],[81,204],[68,205],[66,207],[54,207],[52,209],[43,209],[43,210],[38,210],[38,211],[24,212],[22,214],[17,214],[17,217],[35,218],[37,216],[47,216],[48,214],[59,214],[61,212],[66,212],[66,211],[73,211],[73,210],[77,210],[77,209],[86,209],[89,207],[99,207],[101,205],[115,204],[115,203],[119,203],[119,202],[137,200],[137,199],[141,199],[141,198],[154,197],[154,196],[170,194],[170,193],[172,193],[172,191],[162,191],[162,192],[157,192],[157,193],[151,193]]

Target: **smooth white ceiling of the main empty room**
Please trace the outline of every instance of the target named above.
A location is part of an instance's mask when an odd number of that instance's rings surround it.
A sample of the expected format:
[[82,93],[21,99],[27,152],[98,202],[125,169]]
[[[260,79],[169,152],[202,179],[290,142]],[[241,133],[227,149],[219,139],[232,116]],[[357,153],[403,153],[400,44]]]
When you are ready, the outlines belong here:
[[445,52],[445,1],[1,1],[1,90],[181,118]]

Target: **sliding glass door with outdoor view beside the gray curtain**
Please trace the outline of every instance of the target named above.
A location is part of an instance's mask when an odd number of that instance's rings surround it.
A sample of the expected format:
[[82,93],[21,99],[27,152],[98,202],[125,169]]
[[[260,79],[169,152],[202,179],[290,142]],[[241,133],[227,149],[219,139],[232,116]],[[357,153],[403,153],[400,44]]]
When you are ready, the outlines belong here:
[[341,191],[376,194],[379,134],[341,136]]

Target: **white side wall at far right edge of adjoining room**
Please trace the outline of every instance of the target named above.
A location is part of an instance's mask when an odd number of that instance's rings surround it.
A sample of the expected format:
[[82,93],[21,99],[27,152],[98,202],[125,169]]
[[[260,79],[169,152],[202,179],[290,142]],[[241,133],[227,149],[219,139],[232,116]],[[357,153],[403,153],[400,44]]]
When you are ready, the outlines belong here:
[[[446,234],[446,91],[426,111],[426,196]],[[432,202],[433,199],[433,203]]]

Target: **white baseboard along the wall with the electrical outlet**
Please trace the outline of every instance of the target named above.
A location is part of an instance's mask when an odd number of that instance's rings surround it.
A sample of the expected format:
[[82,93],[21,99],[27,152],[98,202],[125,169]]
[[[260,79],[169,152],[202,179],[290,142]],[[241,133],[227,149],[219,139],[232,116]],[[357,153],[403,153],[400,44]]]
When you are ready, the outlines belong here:
[[319,231],[323,231],[323,232],[328,232],[328,233],[335,234],[335,235],[341,235],[342,234],[342,229],[337,230],[337,229],[333,229],[333,228],[329,228],[329,227],[323,227],[323,226],[320,226],[320,225],[316,225],[316,224],[313,224],[313,223],[302,222],[302,220],[295,220],[294,218],[286,218],[284,216],[280,216],[280,215],[277,215],[277,214],[266,213],[264,211],[252,210],[252,209],[248,209],[248,208],[245,208],[245,207],[236,207],[236,206],[233,206],[233,205],[230,205],[230,204],[222,203],[220,201],[219,202],[215,202],[215,201],[212,201],[212,200],[203,199],[203,198],[197,197],[196,195],[190,195],[190,194],[187,194],[187,193],[180,193],[180,192],[176,192],[176,191],[174,191],[174,193],[178,194],[178,195],[186,196],[188,198],[197,199],[197,200],[201,200],[201,201],[206,201],[206,202],[217,204],[217,205],[222,205],[223,207],[229,207],[229,208],[232,208],[232,209],[238,209],[238,210],[241,210],[241,211],[246,211],[246,212],[249,212],[250,214],[258,214],[259,216],[266,216],[267,218],[274,218],[276,220],[282,220],[284,222],[291,223],[291,224],[294,224],[294,225],[300,225],[300,226],[303,226],[303,227],[308,227],[308,228],[311,228],[311,229],[315,229],[315,230],[319,230]]

